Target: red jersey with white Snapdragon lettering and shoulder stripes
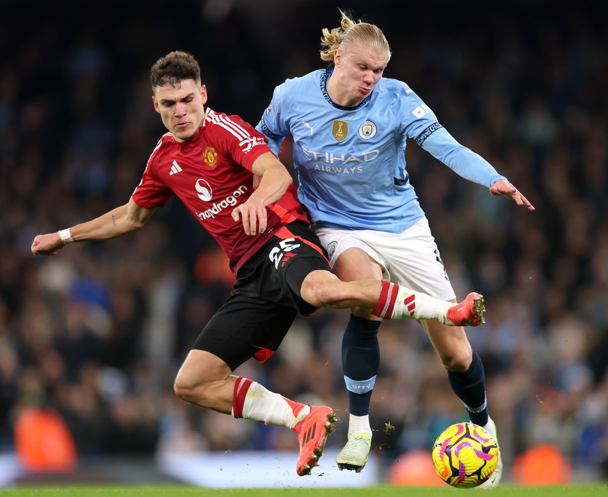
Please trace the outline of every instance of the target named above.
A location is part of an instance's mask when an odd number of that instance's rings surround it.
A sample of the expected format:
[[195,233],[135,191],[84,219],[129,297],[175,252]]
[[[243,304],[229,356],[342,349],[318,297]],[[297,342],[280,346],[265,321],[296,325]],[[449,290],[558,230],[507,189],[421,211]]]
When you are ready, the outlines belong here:
[[309,222],[294,185],[266,207],[268,227],[261,235],[245,235],[243,224],[232,219],[232,210],[254,192],[251,167],[266,152],[271,149],[264,135],[249,123],[207,108],[201,128],[190,140],[178,142],[171,133],[162,135],[133,200],[140,207],[163,207],[176,194],[218,241],[236,275],[275,228],[296,219]]

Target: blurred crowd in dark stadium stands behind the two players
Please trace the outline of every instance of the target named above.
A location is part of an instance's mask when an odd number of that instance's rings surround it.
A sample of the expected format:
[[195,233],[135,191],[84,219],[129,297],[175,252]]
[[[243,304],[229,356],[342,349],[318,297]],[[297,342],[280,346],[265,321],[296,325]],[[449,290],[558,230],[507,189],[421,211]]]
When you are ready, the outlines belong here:
[[[177,200],[143,230],[33,258],[30,244],[128,201],[162,123],[148,70],[170,50],[201,63],[208,105],[257,123],[276,84],[323,67],[337,7],[384,30],[386,77],[406,81],[461,143],[536,206],[491,197],[410,144],[410,178],[459,297],[486,296],[469,329],[511,463],[556,444],[575,479],[608,478],[608,35],[605,2],[185,0],[0,7],[0,451],[24,408],[61,414],[78,457],[294,450],[287,430],[179,401],[176,369],[232,279]],[[290,164],[289,145],[282,159]],[[241,374],[347,418],[348,311],[294,325]],[[465,419],[415,323],[384,323],[373,458],[389,467]],[[384,433],[384,423],[396,430]],[[345,425],[330,437],[339,448]],[[331,466],[331,461],[326,462]]]

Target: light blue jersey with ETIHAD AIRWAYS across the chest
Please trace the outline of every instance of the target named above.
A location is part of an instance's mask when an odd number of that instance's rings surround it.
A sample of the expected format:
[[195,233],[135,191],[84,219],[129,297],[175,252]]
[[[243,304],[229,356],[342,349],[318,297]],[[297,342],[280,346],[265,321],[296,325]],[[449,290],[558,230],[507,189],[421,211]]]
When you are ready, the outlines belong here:
[[326,89],[332,70],[277,86],[257,126],[277,155],[293,136],[298,197],[313,228],[401,233],[421,219],[406,171],[407,138],[466,179],[488,188],[505,179],[454,140],[407,84],[380,78],[358,106],[344,107]]

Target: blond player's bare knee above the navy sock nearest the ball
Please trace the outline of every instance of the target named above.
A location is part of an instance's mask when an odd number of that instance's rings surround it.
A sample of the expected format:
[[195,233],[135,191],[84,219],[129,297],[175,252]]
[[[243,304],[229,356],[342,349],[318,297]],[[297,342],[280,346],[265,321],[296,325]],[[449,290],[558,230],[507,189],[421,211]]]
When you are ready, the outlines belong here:
[[451,371],[466,371],[473,359],[471,344],[461,326],[447,326],[439,321],[420,321],[443,365]]

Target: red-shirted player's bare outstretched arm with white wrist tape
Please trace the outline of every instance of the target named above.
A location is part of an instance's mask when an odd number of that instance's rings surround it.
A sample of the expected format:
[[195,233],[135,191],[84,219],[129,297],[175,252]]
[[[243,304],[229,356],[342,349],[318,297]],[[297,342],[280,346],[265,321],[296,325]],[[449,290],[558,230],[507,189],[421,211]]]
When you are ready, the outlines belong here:
[[33,255],[56,255],[57,251],[72,242],[108,240],[126,235],[141,228],[156,208],[137,205],[133,198],[91,221],[77,224],[66,230],[38,235],[32,243]]

